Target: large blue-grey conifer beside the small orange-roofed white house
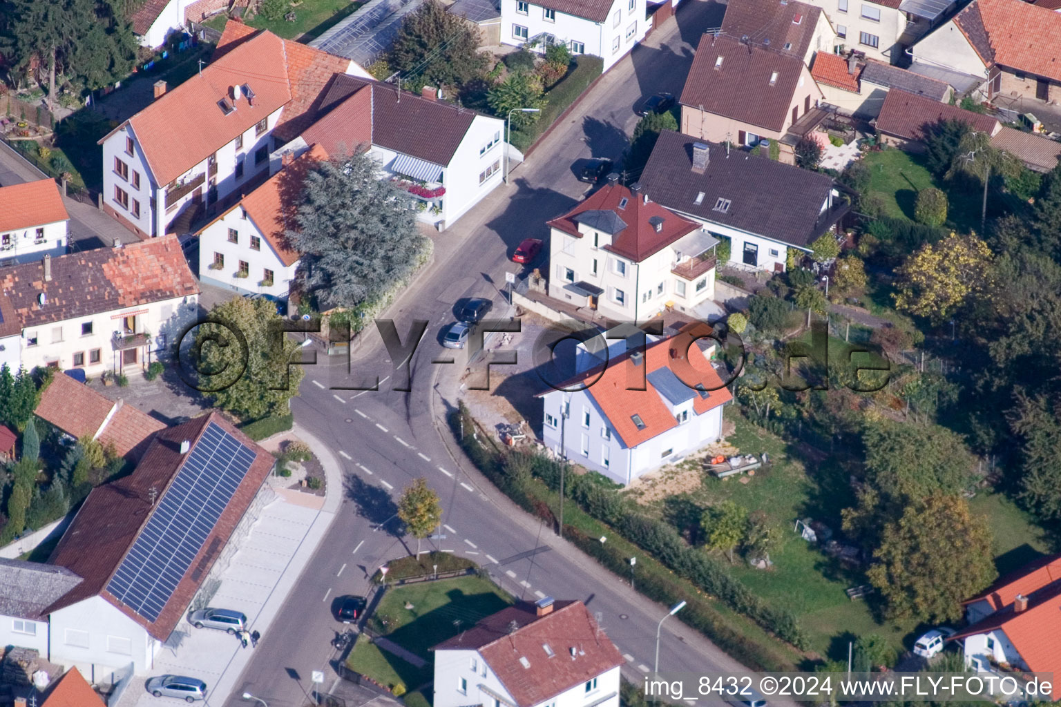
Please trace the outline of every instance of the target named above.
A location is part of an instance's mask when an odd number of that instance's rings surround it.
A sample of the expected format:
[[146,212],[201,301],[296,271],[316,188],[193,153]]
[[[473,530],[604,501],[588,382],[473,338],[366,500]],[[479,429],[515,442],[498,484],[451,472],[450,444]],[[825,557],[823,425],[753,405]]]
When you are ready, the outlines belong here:
[[303,253],[308,284],[328,306],[380,300],[428,252],[411,197],[378,178],[367,155],[321,162],[306,177],[296,223],[288,232]]

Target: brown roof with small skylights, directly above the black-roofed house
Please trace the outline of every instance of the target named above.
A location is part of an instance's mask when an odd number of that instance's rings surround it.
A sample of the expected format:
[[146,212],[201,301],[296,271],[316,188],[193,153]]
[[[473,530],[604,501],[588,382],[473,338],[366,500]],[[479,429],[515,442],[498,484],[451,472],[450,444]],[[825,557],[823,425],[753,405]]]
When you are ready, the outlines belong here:
[[[721,66],[715,69],[717,58]],[[706,34],[696,48],[681,104],[770,130],[781,130],[799,87],[803,61],[772,49],[749,48],[738,39]],[[770,86],[773,72],[778,77]]]

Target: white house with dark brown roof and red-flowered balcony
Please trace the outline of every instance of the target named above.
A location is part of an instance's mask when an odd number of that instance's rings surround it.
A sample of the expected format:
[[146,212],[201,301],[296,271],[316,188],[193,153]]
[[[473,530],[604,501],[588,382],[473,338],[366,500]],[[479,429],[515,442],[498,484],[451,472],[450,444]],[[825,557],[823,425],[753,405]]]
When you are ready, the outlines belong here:
[[329,155],[367,151],[380,177],[408,191],[408,206],[438,230],[456,223],[502,183],[505,123],[500,118],[358,76],[337,76],[323,113],[291,146]]

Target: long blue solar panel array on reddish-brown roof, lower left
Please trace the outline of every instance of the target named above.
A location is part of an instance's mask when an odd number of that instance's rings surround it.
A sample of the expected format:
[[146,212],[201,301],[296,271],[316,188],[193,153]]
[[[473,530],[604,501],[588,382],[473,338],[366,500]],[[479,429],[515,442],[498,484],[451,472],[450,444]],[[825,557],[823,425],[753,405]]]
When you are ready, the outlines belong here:
[[107,591],[156,621],[254,461],[236,438],[207,425]]

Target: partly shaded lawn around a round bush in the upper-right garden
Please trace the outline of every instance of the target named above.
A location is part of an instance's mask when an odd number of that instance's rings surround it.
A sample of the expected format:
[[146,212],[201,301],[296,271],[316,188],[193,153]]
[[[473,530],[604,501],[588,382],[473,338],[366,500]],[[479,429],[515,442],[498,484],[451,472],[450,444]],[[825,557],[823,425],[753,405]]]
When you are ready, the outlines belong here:
[[914,220],[918,191],[936,187],[946,192],[947,226],[962,232],[979,229],[980,193],[936,179],[922,155],[889,148],[867,153],[863,160],[870,167],[870,191],[881,195],[886,215]]

